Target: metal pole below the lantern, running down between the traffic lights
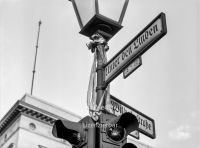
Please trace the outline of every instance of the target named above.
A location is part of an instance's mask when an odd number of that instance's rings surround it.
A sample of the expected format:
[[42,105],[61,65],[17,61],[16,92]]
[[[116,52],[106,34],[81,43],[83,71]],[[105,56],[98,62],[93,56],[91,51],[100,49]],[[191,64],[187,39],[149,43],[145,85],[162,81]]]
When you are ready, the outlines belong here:
[[[106,51],[108,50],[107,42],[106,40],[100,35],[100,34],[94,34],[91,39],[93,42],[90,43],[89,49],[92,49],[92,52],[96,52],[97,57],[97,86],[96,86],[96,105],[100,108],[97,108],[97,111],[101,114],[101,112],[104,112],[105,109],[105,89],[106,86],[104,86],[104,65],[107,62],[106,59]],[[99,114],[99,115],[100,115]],[[100,123],[101,119],[97,120],[96,123]],[[100,128],[95,128],[95,137],[93,137],[93,142],[95,143],[95,148],[101,148],[101,133]]]

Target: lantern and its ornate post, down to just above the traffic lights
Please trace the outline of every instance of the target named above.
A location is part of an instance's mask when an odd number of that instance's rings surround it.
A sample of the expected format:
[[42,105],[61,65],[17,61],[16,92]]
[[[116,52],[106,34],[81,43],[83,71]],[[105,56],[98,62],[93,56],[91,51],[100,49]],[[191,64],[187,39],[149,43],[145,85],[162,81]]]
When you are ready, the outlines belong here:
[[[104,110],[106,101],[103,99],[105,89],[104,65],[107,62],[107,41],[111,39],[121,28],[121,23],[126,12],[129,0],[69,0],[72,2],[81,31],[80,34],[89,37],[92,42],[88,48],[94,53],[97,64],[96,96],[89,107],[95,113]],[[91,81],[91,80],[90,80]],[[95,106],[94,106],[95,102]],[[90,105],[89,105],[90,106]],[[102,109],[103,108],[103,109]],[[95,119],[95,115],[91,115]],[[98,117],[97,117],[98,119]],[[96,120],[97,120],[96,119]]]

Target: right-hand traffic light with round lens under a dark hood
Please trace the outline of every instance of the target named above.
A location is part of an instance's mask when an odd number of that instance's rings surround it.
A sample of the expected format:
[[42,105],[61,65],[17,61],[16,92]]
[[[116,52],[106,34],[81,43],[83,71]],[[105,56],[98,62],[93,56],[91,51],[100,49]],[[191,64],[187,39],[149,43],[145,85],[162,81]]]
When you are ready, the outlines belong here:
[[101,148],[136,148],[135,145],[127,143],[127,136],[138,128],[138,120],[131,113],[120,116],[110,114],[101,115]]

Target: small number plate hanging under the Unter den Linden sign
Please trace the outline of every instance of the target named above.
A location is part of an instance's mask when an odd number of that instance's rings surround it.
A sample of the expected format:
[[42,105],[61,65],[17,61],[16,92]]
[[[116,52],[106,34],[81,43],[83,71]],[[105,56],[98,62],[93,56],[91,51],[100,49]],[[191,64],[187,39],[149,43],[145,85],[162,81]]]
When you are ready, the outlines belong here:
[[124,79],[126,79],[130,74],[132,74],[136,69],[142,65],[142,58],[139,57],[133,61],[128,67],[123,70]]

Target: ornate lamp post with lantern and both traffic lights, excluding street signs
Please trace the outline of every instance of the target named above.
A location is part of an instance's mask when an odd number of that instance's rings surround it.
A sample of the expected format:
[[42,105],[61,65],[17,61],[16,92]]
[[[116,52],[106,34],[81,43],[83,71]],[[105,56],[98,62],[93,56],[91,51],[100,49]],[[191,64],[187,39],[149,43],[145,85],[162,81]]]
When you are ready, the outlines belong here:
[[106,51],[109,49],[107,41],[122,28],[128,0],[70,1],[81,28],[80,33],[92,40],[87,44],[94,53],[87,93],[91,117],[86,116],[79,122],[57,120],[52,133],[77,148],[135,148],[127,143],[127,136],[137,129],[137,118],[131,113],[118,117],[109,113],[109,84],[106,86],[104,70]]

